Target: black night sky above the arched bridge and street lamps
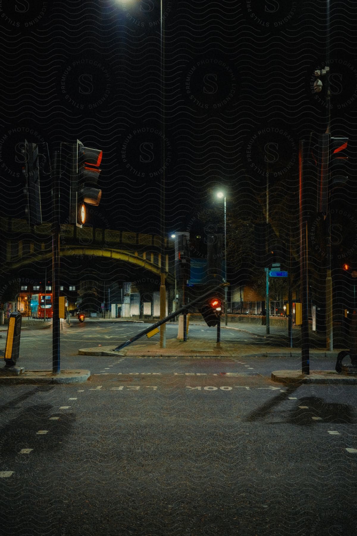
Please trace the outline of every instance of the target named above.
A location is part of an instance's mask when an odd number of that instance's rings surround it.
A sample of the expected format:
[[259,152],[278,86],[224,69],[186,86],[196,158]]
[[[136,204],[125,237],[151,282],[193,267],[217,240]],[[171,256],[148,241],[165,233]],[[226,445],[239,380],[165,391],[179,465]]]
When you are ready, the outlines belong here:
[[[4,215],[24,217],[25,137],[50,151],[77,138],[102,148],[93,226],[159,232],[163,139],[168,232],[198,226],[219,184],[229,210],[259,212],[265,156],[272,182],[277,174],[292,187],[300,137],[326,128],[324,93],[312,88],[325,62],[326,2],[163,4],[164,92],[158,0],[1,2]],[[352,177],[356,22],[355,2],[331,0],[331,132],[350,137]],[[42,170],[45,191],[44,160]]]

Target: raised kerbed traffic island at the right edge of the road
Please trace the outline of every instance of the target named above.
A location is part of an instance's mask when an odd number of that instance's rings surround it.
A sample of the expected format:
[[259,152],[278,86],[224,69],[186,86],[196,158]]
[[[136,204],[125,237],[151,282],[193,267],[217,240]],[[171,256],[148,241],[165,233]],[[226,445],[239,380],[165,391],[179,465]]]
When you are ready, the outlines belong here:
[[344,376],[335,370],[312,370],[310,374],[301,374],[299,370],[274,370],[271,373],[271,379],[274,382],[302,384],[302,383],[321,383],[321,384],[357,384],[356,376]]

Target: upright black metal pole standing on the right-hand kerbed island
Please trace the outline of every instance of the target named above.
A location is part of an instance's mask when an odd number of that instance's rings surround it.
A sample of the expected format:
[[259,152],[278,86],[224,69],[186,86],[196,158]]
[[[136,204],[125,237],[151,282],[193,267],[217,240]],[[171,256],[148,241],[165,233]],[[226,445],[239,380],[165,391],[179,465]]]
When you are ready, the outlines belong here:
[[307,221],[303,213],[305,209],[305,196],[303,191],[304,169],[304,142],[299,143],[299,227],[300,227],[300,286],[301,286],[301,371],[310,374],[309,359],[309,316],[308,316],[308,249],[307,249]]

